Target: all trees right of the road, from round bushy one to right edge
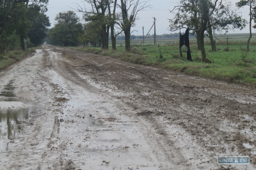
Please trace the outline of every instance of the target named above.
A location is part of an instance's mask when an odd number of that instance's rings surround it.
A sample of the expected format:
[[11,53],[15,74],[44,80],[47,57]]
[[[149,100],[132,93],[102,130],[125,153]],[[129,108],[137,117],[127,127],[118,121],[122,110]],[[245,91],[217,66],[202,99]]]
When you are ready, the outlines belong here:
[[[81,43],[88,45],[90,42],[92,46],[101,46],[102,49],[108,50],[110,34],[113,50],[116,50],[116,39],[124,38],[125,50],[129,51],[131,39],[142,38],[142,36],[131,36],[131,27],[135,25],[138,12],[150,7],[150,5],[146,5],[148,1],[85,0],[85,2],[90,7],[82,8],[78,5],[76,11],[84,13],[83,20],[87,23],[82,25],[73,11],[59,13],[55,18],[57,24],[49,32],[51,42],[64,46],[75,46]],[[247,45],[249,51],[256,2],[255,0],[241,0],[236,3],[238,8],[246,5],[250,7],[250,38]],[[198,50],[201,50],[203,61],[206,62],[205,36],[211,40],[212,51],[217,51],[216,41],[213,38],[216,32],[226,33],[229,30],[241,30],[248,24],[236,10],[231,9],[231,6],[230,1],[222,0],[179,0],[178,5],[171,10],[174,18],[169,20],[169,30],[177,31],[189,27],[191,34],[197,38]],[[119,8],[120,12],[116,12],[116,8]],[[68,19],[72,19],[74,22],[69,22]],[[256,26],[254,27],[256,28]],[[121,32],[124,33],[124,37],[118,36]],[[176,37],[176,34],[164,34],[163,38],[170,36]]]

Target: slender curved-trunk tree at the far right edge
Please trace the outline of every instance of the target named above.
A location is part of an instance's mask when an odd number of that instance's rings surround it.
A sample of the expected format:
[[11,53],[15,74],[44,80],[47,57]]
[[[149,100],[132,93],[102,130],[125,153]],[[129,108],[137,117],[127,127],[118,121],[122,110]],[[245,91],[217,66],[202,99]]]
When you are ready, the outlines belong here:
[[247,41],[247,51],[250,51],[250,41],[252,38],[252,20],[256,19],[255,15],[256,15],[256,1],[255,0],[240,0],[239,2],[236,3],[236,6],[238,8],[242,8],[244,6],[249,6],[250,8],[250,12],[249,12],[249,28],[250,28],[250,36],[249,39]]

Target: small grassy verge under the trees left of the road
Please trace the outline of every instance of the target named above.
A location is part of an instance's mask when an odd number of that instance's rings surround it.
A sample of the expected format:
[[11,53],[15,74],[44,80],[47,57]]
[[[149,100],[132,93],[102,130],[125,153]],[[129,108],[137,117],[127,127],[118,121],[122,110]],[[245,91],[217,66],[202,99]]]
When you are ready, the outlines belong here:
[[22,51],[22,50],[14,50],[10,51],[4,55],[0,55],[0,70],[5,69],[12,64],[27,58],[29,55],[35,52],[35,48],[29,48],[28,51]]

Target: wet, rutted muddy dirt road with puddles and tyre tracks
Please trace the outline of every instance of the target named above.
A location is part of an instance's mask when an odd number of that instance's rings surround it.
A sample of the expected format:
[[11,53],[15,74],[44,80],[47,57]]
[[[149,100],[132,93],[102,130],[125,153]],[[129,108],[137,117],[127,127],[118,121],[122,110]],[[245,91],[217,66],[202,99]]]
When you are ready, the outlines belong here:
[[0,84],[0,169],[256,168],[255,87],[47,45]]

